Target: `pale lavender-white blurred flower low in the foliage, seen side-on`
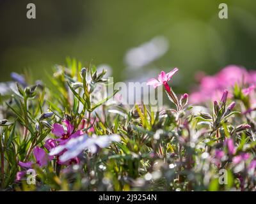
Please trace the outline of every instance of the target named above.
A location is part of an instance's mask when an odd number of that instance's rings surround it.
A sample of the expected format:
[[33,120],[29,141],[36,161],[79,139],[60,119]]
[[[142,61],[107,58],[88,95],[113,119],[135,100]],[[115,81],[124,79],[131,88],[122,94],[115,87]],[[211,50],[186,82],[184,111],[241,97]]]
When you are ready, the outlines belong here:
[[87,135],[81,135],[77,138],[70,139],[64,145],[59,145],[51,150],[50,156],[60,154],[63,150],[66,150],[61,156],[60,161],[65,162],[78,156],[83,150],[89,149],[92,153],[97,151],[97,147],[108,147],[111,142],[120,142],[119,135],[93,135],[88,137]]

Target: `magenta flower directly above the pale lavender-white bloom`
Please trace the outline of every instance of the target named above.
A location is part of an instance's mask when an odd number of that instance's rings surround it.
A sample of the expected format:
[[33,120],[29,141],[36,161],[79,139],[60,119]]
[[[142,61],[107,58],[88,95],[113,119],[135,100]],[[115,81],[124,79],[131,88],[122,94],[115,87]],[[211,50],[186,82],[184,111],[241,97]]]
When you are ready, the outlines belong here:
[[65,124],[65,126],[61,126],[60,124],[56,123],[52,128],[52,133],[59,137],[56,139],[56,141],[60,142],[60,145],[67,143],[70,138],[76,138],[77,136],[84,134],[81,130],[74,133],[74,126],[72,126],[68,120],[63,120],[62,122]]

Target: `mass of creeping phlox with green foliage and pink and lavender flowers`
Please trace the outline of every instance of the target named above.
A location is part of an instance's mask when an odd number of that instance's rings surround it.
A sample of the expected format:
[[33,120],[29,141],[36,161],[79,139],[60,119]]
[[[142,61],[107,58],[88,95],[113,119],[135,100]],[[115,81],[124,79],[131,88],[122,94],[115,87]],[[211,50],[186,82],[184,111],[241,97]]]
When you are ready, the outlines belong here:
[[106,71],[75,60],[47,85],[12,73],[0,101],[1,189],[255,191],[255,73],[229,66],[189,96],[168,84],[177,72],[148,80],[170,99],[157,112],[105,103],[117,92],[97,88]]

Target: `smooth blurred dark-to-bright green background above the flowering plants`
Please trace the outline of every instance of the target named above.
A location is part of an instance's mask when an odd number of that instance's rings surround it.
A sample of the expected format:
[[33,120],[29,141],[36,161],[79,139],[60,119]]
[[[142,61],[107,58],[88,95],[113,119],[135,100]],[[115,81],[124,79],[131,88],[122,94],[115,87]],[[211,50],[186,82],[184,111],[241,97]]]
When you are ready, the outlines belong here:
[[[28,3],[35,3],[36,19],[26,18]],[[220,3],[227,3],[228,19],[218,17]],[[24,69],[44,79],[67,56],[108,64],[115,81],[178,67],[175,82],[184,90],[196,71],[216,73],[228,64],[256,69],[255,0],[1,0],[0,17],[1,82]],[[127,51],[156,36],[168,45],[164,54],[127,68]]]

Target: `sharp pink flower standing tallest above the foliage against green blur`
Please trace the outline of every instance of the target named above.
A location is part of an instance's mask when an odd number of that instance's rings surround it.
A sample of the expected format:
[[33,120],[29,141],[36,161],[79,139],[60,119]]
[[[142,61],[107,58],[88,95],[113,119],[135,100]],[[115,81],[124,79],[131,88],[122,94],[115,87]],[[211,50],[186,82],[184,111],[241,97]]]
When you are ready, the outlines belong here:
[[165,73],[164,71],[161,71],[161,73],[158,75],[158,78],[151,78],[148,80],[147,85],[152,85],[154,89],[158,87],[159,85],[164,85],[164,88],[166,89],[167,92],[170,92],[170,87],[167,84],[167,82],[172,78],[172,76],[179,71],[178,68],[174,68],[172,71],[169,73]]

